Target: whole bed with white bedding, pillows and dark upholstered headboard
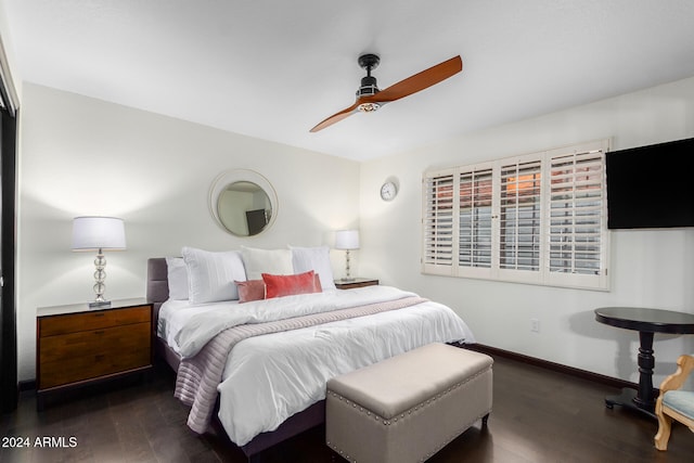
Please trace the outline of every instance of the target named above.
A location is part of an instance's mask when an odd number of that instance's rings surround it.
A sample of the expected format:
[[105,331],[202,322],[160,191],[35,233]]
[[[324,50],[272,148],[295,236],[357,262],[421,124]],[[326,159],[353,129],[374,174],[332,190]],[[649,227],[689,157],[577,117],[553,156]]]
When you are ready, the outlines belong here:
[[[474,343],[440,304],[389,286],[334,288],[327,248],[182,254],[147,261],[156,351],[177,372],[189,426],[204,433],[217,421],[249,459],[324,422],[330,377],[432,342]],[[275,274],[318,290],[266,299],[243,288],[261,281],[270,295],[277,285],[258,276]],[[209,292],[210,281],[228,293]]]

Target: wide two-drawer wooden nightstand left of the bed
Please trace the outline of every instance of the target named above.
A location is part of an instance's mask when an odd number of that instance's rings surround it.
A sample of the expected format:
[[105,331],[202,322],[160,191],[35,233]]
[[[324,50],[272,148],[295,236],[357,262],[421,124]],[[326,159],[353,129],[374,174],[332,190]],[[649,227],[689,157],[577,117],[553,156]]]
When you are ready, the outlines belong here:
[[47,395],[152,368],[152,304],[146,299],[41,307],[36,318],[37,407]]

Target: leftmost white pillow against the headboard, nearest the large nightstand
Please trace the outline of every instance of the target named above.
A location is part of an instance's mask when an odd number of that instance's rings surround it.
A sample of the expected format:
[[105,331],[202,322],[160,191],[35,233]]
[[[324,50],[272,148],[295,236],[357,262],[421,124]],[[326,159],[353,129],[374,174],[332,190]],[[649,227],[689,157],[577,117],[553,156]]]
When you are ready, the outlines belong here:
[[237,250],[213,253],[183,247],[188,267],[188,296],[192,304],[239,299],[234,280],[246,280],[241,254]]

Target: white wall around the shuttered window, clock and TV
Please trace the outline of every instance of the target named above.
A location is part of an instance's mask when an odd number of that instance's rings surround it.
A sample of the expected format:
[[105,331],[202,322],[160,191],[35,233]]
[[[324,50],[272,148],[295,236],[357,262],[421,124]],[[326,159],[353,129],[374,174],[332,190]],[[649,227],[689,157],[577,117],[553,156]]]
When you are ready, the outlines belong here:
[[[422,119],[426,124],[426,115]],[[694,78],[364,163],[360,274],[450,305],[481,344],[638,382],[638,334],[595,322],[593,309],[624,305],[694,313],[694,229],[612,232],[609,292],[424,275],[422,172],[604,138],[619,150],[689,137]],[[378,189],[391,177],[400,193],[381,202]],[[540,320],[540,333],[530,332],[531,318]],[[694,352],[694,336],[656,335],[656,386],[684,352]]]

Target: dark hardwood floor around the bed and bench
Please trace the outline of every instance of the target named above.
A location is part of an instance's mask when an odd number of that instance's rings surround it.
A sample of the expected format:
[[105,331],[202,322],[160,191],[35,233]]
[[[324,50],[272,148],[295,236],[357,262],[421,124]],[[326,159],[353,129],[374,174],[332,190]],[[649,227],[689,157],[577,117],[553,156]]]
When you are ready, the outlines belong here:
[[[673,425],[668,452],[658,452],[654,420],[618,407],[606,409],[604,397],[616,389],[501,357],[494,359],[493,372],[489,426],[470,428],[432,463],[694,461],[694,434],[686,427]],[[18,410],[0,420],[0,461],[245,461],[220,435],[198,437],[188,429],[187,408],[172,397],[174,382],[170,370],[158,365],[145,381],[82,389],[42,412],[36,411],[35,396],[24,393]],[[12,438],[28,439],[29,446],[5,447],[16,445]],[[37,446],[37,438],[47,446]],[[262,460],[340,462],[323,439],[322,429],[314,428],[268,450]]]

